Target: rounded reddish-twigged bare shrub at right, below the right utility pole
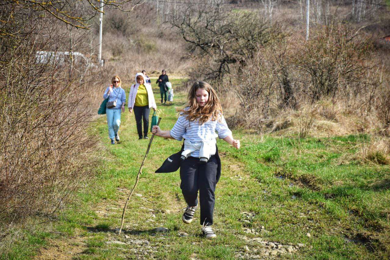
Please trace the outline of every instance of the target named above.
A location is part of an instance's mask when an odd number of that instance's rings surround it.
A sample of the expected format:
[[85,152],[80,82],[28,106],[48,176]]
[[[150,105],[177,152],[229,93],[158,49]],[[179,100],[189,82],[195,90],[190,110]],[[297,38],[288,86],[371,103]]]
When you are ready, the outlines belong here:
[[[299,48],[299,47],[298,47]],[[359,94],[371,87],[370,41],[344,25],[317,26],[296,54],[296,66],[307,75],[304,82],[312,101]]]

